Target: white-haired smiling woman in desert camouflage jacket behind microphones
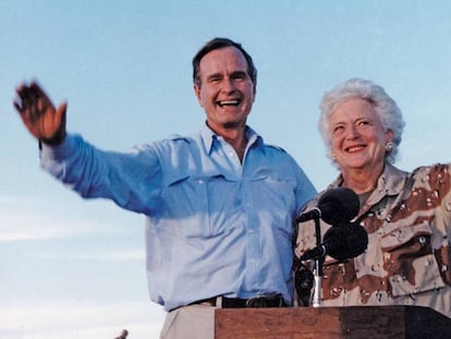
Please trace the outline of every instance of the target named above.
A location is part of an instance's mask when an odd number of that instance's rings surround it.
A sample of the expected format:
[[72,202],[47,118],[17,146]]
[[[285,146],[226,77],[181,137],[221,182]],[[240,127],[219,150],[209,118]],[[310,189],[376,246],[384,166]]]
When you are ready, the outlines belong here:
[[[357,257],[325,258],[321,304],[428,306],[451,317],[451,166],[411,173],[393,166],[404,122],[394,100],[369,81],[337,86],[320,109],[320,133],[340,170],[329,189],[358,195],[353,221],[368,233],[367,250]],[[321,220],[321,234],[328,228]],[[316,244],[314,222],[297,225],[294,240],[298,258]]]

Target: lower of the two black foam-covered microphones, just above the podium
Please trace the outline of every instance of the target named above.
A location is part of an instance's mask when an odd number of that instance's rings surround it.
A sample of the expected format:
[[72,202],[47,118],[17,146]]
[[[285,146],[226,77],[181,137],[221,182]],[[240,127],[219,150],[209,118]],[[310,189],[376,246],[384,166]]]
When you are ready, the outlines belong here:
[[368,234],[357,222],[332,226],[324,237],[321,245],[301,256],[301,261],[319,259],[329,255],[338,261],[356,257],[368,246]]

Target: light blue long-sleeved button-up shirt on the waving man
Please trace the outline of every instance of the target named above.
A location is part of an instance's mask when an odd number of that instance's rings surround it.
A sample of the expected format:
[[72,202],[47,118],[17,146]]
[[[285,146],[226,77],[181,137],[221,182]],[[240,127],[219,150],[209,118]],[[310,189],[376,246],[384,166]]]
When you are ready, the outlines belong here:
[[282,293],[292,303],[292,226],[316,191],[283,149],[247,128],[243,164],[205,128],[130,153],[68,135],[41,166],[83,197],[146,216],[149,293],[164,310],[216,296]]

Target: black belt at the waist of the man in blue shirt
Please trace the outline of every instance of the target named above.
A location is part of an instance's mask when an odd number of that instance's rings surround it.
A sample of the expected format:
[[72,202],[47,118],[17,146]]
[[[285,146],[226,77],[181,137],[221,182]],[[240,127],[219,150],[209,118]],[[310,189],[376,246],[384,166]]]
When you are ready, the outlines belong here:
[[214,296],[191,303],[199,305],[210,305],[220,308],[241,308],[241,307],[288,307],[281,295],[258,295],[249,299]]

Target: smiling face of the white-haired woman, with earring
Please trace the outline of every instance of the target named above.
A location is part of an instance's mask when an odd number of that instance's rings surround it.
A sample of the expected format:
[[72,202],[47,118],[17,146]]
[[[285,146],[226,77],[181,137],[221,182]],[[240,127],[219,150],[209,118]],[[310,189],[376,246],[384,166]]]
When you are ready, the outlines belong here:
[[392,132],[383,131],[371,102],[356,98],[339,104],[329,116],[329,132],[342,172],[383,167],[385,145]]

